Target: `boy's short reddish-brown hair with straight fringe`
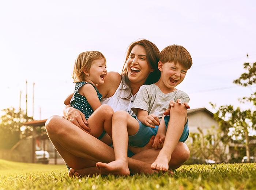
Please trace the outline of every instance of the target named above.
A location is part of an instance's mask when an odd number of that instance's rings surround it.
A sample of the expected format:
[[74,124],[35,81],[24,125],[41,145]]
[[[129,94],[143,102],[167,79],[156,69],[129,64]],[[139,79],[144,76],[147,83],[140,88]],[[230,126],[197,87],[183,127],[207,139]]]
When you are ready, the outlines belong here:
[[192,58],[189,52],[183,46],[175,44],[169,45],[161,51],[160,61],[162,63],[174,62],[174,64],[178,62],[186,69],[192,66]]

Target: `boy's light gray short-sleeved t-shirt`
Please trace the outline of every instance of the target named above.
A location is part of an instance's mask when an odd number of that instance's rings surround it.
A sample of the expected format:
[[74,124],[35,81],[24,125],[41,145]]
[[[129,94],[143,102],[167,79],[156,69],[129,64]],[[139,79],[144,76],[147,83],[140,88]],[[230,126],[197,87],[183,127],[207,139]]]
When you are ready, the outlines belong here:
[[181,90],[164,94],[155,84],[143,85],[140,87],[131,109],[135,115],[138,115],[137,108],[139,108],[148,111],[148,115],[155,114],[161,119],[163,112],[169,107],[170,101],[176,102],[177,99],[181,99],[182,103],[189,102],[188,95]]

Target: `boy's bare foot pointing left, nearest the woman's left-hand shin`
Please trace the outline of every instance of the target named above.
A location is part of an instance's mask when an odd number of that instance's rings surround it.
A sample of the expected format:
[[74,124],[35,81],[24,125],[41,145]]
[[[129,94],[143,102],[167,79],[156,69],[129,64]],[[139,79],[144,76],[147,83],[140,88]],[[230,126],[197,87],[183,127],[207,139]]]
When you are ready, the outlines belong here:
[[127,162],[122,160],[116,160],[109,162],[108,164],[97,162],[96,167],[98,168],[100,174],[130,175]]

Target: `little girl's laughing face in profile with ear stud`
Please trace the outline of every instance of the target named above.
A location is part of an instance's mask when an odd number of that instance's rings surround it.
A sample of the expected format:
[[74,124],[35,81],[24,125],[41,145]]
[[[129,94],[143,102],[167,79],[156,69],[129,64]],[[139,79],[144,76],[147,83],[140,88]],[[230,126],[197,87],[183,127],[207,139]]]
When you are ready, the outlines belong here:
[[[91,63],[91,68],[89,72],[84,71],[85,80],[91,82],[94,85],[101,85],[104,83],[104,79],[108,74],[106,70],[106,63],[104,59],[96,59]],[[89,76],[88,76],[89,74]]]

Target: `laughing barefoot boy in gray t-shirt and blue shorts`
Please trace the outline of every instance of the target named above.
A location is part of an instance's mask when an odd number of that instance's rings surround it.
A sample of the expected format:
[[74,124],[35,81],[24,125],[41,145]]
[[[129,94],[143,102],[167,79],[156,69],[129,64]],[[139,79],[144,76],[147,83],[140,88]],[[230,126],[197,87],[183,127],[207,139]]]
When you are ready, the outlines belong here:
[[153,147],[155,149],[162,147],[162,150],[151,165],[151,169],[162,171],[169,169],[171,155],[178,141],[184,142],[188,138],[189,130],[187,116],[182,118],[177,115],[176,123],[173,123],[169,122],[170,116],[164,116],[163,113],[170,104],[174,105],[174,102],[184,103],[188,107],[188,95],[175,87],[183,81],[191,66],[191,55],[184,47],[170,45],[162,50],[158,62],[160,79],[155,84],[141,86],[133,102],[132,111],[138,119],[122,111],[114,113],[112,138],[116,161],[108,164],[98,162],[96,164],[98,169],[113,174],[128,175],[127,145],[143,147],[153,135],[155,135]]

